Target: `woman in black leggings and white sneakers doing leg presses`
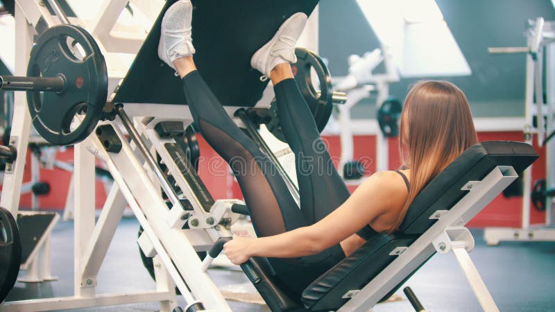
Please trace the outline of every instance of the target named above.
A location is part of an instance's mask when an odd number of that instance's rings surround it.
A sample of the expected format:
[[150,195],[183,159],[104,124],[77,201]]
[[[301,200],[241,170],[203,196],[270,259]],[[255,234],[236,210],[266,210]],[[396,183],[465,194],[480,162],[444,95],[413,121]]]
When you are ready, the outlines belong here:
[[196,71],[191,19],[189,0],[167,10],[158,54],[179,73],[197,128],[237,177],[259,237],[234,239],[225,244],[225,254],[236,264],[267,257],[293,291],[302,291],[359,248],[367,234],[398,229],[422,187],[477,141],[461,90],[441,81],[418,83],[401,117],[404,169],[376,173],[350,195],[291,73],[296,40],[307,21],[296,13],[253,55],[251,66],[274,85],[278,118],[296,155],[298,207],[268,157],[235,125]]

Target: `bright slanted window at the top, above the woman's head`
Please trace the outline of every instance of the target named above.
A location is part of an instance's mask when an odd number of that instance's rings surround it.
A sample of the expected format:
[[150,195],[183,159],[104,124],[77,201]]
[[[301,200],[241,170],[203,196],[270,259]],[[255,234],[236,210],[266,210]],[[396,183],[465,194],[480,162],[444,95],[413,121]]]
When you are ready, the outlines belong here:
[[[555,1],[555,0],[554,0]],[[403,77],[472,73],[434,0],[357,0]]]

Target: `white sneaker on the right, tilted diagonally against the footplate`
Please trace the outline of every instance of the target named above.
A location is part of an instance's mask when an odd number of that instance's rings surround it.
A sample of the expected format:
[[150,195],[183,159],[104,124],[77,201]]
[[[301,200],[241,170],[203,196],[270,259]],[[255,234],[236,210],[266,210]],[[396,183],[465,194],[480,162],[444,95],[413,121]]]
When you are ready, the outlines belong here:
[[291,15],[283,22],[273,38],[256,51],[250,59],[250,66],[264,73],[268,78],[275,65],[296,63],[295,46],[302,30],[305,29],[307,19],[307,15],[302,12]]

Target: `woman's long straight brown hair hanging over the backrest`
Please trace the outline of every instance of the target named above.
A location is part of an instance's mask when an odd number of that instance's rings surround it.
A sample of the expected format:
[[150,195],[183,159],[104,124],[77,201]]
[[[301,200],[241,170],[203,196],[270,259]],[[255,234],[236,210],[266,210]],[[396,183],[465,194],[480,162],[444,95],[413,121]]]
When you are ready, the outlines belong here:
[[401,113],[399,139],[402,164],[411,170],[411,187],[391,231],[401,225],[426,184],[476,142],[470,106],[461,89],[447,81],[414,85]]

